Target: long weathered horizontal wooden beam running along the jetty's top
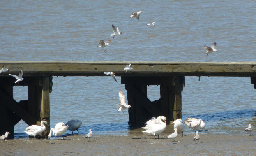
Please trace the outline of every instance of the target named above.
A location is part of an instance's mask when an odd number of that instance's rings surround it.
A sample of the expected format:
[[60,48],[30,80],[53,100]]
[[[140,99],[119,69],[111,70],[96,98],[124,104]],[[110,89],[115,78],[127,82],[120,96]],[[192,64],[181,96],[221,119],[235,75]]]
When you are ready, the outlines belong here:
[[134,70],[125,73],[127,63],[0,61],[0,67],[8,66],[11,74],[22,69],[24,76],[256,76],[256,62],[131,62]]

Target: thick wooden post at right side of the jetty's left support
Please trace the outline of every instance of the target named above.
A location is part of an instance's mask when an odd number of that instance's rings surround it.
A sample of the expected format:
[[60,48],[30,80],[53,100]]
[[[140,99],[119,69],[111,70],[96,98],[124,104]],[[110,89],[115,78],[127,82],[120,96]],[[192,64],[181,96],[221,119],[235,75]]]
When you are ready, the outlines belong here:
[[45,120],[48,123],[46,130],[41,134],[42,138],[47,138],[50,132],[50,80],[50,77],[37,77],[34,81],[38,82],[28,84],[28,112],[37,121]]

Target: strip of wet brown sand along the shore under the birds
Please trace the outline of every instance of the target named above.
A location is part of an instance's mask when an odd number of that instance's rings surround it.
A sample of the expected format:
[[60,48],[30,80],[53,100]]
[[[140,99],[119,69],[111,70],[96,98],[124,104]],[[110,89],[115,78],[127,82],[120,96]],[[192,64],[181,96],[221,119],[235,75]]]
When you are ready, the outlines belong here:
[[94,136],[88,142],[85,135],[52,137],[51,140],[32,138],[0,140],[1,156],[191,156],[191,155],[224,155],[255,156],[256,135],[205,135],[200,134],[200,143],[193,141],[194,133],[178,136],[174,142],[160,135],[160,139],[143,134],[119,136]]

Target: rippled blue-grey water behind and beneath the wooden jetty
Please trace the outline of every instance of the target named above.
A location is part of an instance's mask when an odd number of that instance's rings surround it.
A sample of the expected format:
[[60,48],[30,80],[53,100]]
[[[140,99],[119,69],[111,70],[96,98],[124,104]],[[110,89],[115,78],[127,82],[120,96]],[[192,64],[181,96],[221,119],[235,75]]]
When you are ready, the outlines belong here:
[[[143,11],[139,21],[129,19]],[[28,1],[0,2],[0,54],[3,61],[255,61],[254,1]],[[155,21],[155,27],[146,26]],[[123,32],[106,47],[112,23]],[[204,45],[217,42],[218,52],[205,56]],[[117,112],[118,89],[111,77],[53,77],[51,127],[79,119],[80,134],[128,135],[128,112]],[[27,99],[27,88],[14,87],[14,98]],[[24,91],[24,92],[19,92]],[[159,86],[148,96],[158,100]],[[186,77],[182,115],[198,117],[207,134],[241,135],[256,125],[255,89],[249,77]],[[27,137],[24,122],[16,138]],[[171,129],[170,126],[168,126]],[[171,130],[169,130],[171,131]],[[185,132],[190,132],[185,128]],[[66,133],[70,133],[67,131]]]

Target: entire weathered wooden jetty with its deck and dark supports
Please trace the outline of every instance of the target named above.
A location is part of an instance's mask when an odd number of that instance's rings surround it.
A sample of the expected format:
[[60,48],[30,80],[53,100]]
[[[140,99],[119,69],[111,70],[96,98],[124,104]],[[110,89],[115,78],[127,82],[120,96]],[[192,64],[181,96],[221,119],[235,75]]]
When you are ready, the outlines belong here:
[[[50,127],[50,93],[53,76],[105,76],[113,71],[121,77],[127,90],[129,124],[144,126],[145,121],[155,116],[165,116],[167,121],[181,118],[182,90],[185,76],[238,76],[251,77],[256,89],[256,62],[131,62],[134,70],[124,71],[128,62],[35,62],[0,61],[0,68],[9,67],[9,72],[0,74],[0,134],[11,132],[21,119],[28,125],[48,122],[42,137],[46,138]],[[24,80],[15,84],[15,78],[7,75],[23,70]],[[16,102],[13,86],[28,86],[28,100]],[[147,85],[160,85],[160,98],[147,98]]]

